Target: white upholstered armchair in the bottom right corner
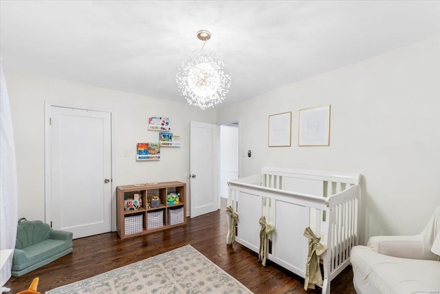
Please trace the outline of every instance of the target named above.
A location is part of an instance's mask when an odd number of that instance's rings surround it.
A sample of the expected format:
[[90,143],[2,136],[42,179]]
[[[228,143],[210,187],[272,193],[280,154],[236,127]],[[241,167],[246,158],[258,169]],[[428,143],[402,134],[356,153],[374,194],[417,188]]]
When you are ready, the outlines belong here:
[[358,294],[440,293],[440,206],[419,235],[375,236],[354,246]]

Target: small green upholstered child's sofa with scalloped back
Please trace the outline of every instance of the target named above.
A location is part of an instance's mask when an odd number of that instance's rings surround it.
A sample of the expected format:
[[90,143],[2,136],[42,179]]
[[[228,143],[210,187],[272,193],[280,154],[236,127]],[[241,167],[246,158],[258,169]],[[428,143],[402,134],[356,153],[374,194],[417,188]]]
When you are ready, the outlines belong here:
[[41,220],[19,220],[12,275],[19,277],[73,251],[73,233],[56,231]]

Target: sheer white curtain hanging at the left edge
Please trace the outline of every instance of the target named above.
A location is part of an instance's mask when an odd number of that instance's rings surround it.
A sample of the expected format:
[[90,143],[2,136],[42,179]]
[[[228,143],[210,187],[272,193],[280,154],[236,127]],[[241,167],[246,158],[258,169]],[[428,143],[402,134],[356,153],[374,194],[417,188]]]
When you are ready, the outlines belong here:
[[[14,133],[3,68],[0,67],[0,249],[14,249],[17,238],[18,196]],[[1,287],[11,277],[12,255],[1,269]]]

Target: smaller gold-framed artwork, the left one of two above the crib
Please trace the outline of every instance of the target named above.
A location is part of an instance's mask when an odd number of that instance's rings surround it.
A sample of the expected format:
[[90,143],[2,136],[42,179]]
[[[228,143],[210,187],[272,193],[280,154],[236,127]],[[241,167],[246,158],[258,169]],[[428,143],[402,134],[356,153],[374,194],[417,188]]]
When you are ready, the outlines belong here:
[[269,147],[289,147],[292,143],[292,112],[269,116]]

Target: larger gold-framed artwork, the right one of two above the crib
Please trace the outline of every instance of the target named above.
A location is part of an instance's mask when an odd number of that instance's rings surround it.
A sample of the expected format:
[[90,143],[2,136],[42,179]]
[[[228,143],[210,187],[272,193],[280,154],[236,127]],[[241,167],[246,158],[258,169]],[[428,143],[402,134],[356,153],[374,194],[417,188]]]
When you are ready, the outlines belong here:
[[330,105],[300,109],[298,146],[330,145]]

